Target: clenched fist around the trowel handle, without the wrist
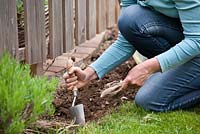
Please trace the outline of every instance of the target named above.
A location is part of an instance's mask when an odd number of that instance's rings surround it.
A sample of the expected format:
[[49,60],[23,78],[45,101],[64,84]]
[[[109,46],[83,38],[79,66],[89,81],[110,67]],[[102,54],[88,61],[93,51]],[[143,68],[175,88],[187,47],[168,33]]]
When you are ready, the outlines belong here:
[[85,86],[88,81],[87,73],[81,70],[79,67],[71,67],[64,75],[63,78],[65,79],[66,88],[68,90],[72,90],[74,86],[77,88],[81,88]]

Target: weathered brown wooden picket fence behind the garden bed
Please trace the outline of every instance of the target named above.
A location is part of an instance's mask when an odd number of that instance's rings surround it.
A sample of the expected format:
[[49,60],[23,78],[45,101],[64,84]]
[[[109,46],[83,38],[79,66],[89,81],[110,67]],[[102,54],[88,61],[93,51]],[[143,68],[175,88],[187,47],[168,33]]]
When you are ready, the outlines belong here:
[[112,27],[120,10],[118,0],[48,0],[47,13],[43,0],[23,0],[24,32],[19,32],[16,0],[0,1],[0,54],[8,51],[36,73],[47,56],[60,56]]

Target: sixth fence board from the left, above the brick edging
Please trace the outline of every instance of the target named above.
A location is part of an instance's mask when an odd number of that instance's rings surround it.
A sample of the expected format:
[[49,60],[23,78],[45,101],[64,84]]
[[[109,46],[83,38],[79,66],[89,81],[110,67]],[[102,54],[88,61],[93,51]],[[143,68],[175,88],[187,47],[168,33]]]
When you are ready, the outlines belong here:
[[96,0],[87,0],[86,5],[86,35],[89,40],[96,35]]

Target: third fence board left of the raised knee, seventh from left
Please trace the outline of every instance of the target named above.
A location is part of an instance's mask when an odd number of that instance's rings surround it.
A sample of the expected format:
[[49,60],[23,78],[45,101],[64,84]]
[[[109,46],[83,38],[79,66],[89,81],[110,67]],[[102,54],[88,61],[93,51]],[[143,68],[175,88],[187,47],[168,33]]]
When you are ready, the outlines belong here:
[[106,1],[107,0],[96,1],[97,33],[101,33],[106,29]]

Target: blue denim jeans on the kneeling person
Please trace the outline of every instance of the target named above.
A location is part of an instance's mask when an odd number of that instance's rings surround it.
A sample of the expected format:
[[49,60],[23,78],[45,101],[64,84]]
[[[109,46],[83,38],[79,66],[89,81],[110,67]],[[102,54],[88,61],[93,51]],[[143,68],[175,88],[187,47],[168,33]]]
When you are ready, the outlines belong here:
[[[184,39],[179,19],[148,7],[132,5],[119,19],[121,34],[142,55],[152,58]],[[200,56],[164,73],[155,73],[135,96],[146,110],[164,112],[191,107],[200,102]]]

